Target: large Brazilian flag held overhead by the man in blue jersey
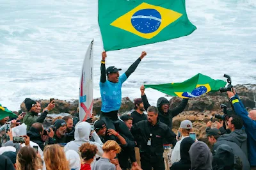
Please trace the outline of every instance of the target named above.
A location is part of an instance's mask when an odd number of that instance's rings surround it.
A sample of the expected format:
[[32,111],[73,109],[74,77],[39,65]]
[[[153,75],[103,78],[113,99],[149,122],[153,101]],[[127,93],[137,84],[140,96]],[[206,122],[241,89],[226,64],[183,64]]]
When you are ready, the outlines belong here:
[[99,0],[104,49],[119,50],[190,35],[185,0]]

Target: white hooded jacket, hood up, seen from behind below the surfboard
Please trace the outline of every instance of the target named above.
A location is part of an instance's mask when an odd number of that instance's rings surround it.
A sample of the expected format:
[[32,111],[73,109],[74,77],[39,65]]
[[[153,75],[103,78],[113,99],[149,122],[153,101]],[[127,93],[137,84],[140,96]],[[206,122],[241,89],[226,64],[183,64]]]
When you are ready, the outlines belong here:
[[64,147],[64,151],[66,152],[68,150],[74,150],[78,152],[79,147],[83,143],[90,143],[97,146],[98,151],[97,151],[96,157],[102,157],[103,150],[102,150],[102,143],[100,141],[99,135],[97,135],[96,132],[93,132],[92,134],[93,138],[97,142],[91,142],[89,138],[90,132],[91,132],[90,123],[87,123],[86,121],[79,123],[75,130],[75,141],[71,141],[67,143],[66,146]]

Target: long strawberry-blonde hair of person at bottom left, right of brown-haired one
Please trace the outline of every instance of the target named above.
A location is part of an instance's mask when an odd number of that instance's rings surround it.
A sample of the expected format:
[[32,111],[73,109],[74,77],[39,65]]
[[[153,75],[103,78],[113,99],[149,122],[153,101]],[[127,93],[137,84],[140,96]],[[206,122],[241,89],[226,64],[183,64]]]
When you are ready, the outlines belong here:
[[65,152],[58,144],[45,146],[44,162],[47,170],[70,170]]

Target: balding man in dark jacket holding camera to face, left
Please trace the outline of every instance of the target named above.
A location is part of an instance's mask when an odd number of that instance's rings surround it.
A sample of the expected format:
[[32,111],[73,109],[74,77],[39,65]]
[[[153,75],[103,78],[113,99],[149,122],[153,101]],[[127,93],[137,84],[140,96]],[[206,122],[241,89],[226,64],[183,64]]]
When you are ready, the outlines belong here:
[[[54,141],[52,139],[54,132],[52,129],[50,129],[51,132],[47,134],[48,138],[48,144],[54,144]],[[41,148],[41,150],[44,150],[44,143],[43,140],[44,137],[44,127],[42,123],[33,123],[33,125],[30,127],[29,131],[27,132],[27,135],[30,138],[30,141],[33,141],[34,143],[37,143],[38,146]]]

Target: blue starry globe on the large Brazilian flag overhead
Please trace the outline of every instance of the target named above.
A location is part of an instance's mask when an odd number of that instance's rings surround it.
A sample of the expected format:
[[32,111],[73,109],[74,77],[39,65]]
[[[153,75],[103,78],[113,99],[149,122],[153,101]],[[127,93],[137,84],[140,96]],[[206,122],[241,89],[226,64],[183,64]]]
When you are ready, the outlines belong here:
[[161,14],[155,9],[143,9],[134,13],[132,26],[140,33],[154,33],[161,25]]

